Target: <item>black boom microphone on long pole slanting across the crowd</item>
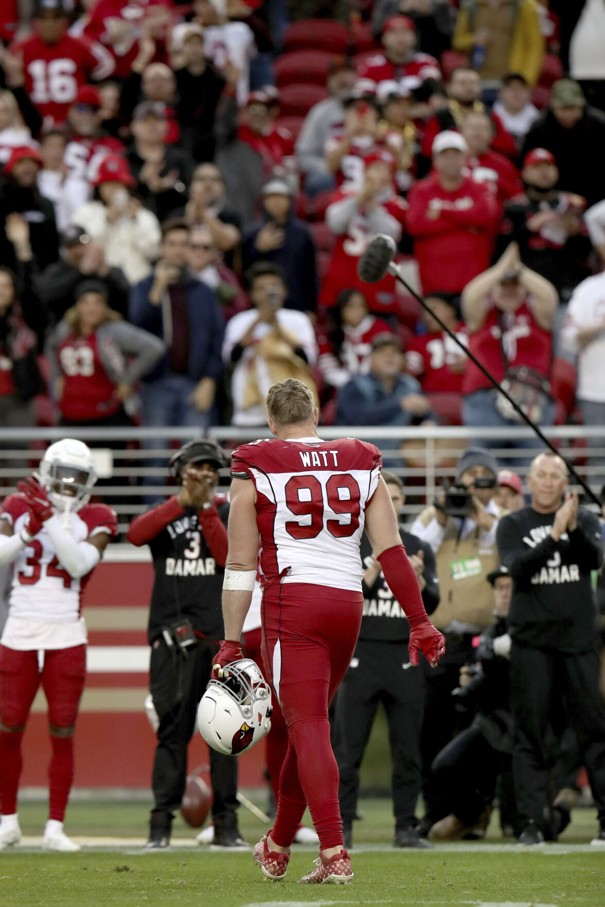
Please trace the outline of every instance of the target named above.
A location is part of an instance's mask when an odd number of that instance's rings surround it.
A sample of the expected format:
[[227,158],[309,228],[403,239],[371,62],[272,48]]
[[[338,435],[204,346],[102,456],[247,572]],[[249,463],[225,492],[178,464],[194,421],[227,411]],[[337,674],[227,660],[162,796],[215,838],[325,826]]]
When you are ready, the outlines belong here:
[[387,271],[390,271],[395,276],[395,278],[399,280],[403,287],[407,289],[408,293],[410,293],[414,297],[414,299],[416,299],[421,304],[422,308],[425,309],[425,311],[429,312],[429,314],[435,319],[441,329],[444,330],[446,334],[451,336],[451,339],[456,344],[456,346],[460,346],[462,353],[465,356],[468,356],[469,359],[471,359],[471,362],[473,362],[475,366],[479,368],[481,373],[488,379],[491,386],[499,391],[506,400],[508,400],[515,413],[521,416],[521,419],[526,425],[530,426],[530,428],[533,430],[533,433],[540,438],[542,444],[545,444],[546,447],[550,448],[552,453],[556,453],[557,456],[560,457],[563,463],[565,463],[565,465],[567,466],[570,475],[576,480],[576,482],[588,495],[590,500],[595,503],[600,510],[599,498],[592,491],[590,485],[584,482],[581,476],[576,472],[572,463],[570,463],[567,457],[564,457],[562,453],[557,450],[550,439],[547,438],[545,434],[543,434],[541,428],[537,424],[532,422],[530,416],[521,408],[516,400],[512,399],[508,391],[504,387],[502,387],[500,382],[497,381],[493,375],[491,375],[491,373],[487,370],[483,363],[479,361],[477,356],[473,356],[471,350],[461,343],[460,337],[454,334],[454,332],[449,327],[447,327],[447,325],[443,324],[441,318],[435,315],[431,307],[427,306],[420,293],[417,293],[416,290],[410,286],[407,280],[402,277],[402,269],[400,268],[400,266],[392,263],[392,258],[396,250],[397,247],[395,245],[394,239],[391,239],[390,236],[386,236],[384,233],[377,233],[376,236],[370,240],[368,248],[365,250],[365,252],[363,252],[362,257],[359,259],[359,264],[357,266],[357,273],[359,277],[363,280],[364,283],[378,283],[379,280],[382,280]]

